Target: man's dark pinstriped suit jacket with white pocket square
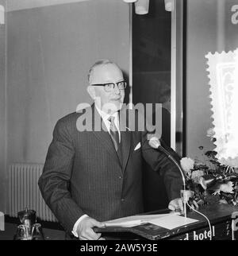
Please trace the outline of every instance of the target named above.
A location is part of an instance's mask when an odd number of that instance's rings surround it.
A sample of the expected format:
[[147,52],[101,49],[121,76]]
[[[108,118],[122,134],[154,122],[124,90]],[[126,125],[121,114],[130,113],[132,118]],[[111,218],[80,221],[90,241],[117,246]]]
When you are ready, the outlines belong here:
[[[92,117],[87,111],[83,114],[93,120],[94,130],[94,114],[101,117],[92,110]],[[68,114],[56,123],[39,180],[46,204],[66,231],[71,232],[83,214],[105,221],[143,212],[143,158],[163,175],[169,199],[179,197],[181,175],[163,153],[148,145],[146,131],[121,131],[123,161],[119,161],[108,132],[77,130],[80,116]],[[140,149],[134,150],[139,142]]]

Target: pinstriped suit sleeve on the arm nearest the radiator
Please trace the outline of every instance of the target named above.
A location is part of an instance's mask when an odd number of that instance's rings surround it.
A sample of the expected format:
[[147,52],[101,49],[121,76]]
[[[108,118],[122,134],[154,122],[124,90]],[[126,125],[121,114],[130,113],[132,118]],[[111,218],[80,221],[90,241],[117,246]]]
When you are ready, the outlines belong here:
[[69,190],[74,157],[75,149],[67,124],[59,120],[38,184],[46,204],[68,232],[73,230],[77,219],[84,214],[72,200]]

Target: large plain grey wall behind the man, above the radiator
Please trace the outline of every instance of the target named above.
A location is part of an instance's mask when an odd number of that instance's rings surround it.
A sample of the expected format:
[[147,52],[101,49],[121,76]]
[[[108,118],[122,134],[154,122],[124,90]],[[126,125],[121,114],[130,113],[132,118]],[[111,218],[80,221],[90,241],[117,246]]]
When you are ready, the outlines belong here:
[[44,163],[52,130],[88,102],[98,59],[129,70],[129,5],[100,0],[8,14],[8,162]]

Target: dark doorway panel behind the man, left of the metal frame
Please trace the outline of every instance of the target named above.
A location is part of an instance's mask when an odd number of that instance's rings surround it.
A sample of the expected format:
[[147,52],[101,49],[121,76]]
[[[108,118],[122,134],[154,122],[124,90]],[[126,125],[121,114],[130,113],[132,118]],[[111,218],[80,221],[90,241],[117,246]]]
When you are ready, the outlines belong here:
[[[162,138],[170,145],[171,12],[163,0],[153,0],[148,14],[132,15],[132,101],[163,104]],[[146,163],[143,175],[145,211],[167,208],[162,177]]]

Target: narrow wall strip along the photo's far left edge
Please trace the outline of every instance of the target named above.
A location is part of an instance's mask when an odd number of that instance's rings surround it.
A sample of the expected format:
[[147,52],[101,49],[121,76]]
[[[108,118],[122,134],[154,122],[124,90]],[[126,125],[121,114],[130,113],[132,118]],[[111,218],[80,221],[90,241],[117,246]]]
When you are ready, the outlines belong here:
[[[6,0],[0,0],[6,6]],[[6,24],[0,25],[0,211],[6,197]]]

